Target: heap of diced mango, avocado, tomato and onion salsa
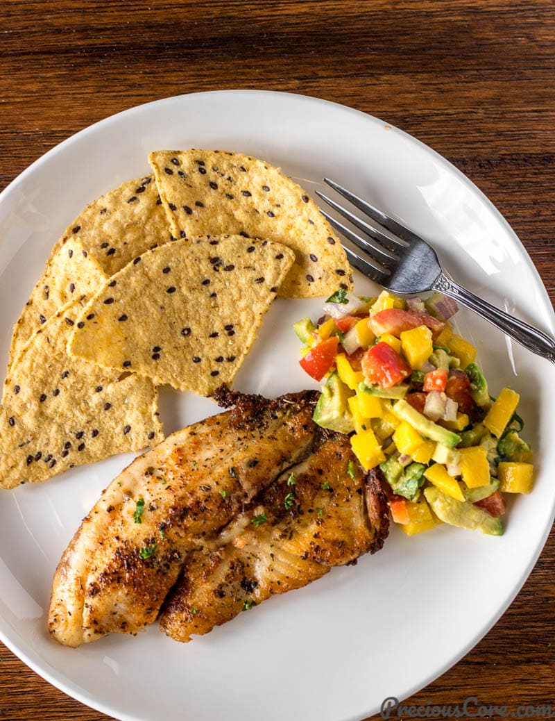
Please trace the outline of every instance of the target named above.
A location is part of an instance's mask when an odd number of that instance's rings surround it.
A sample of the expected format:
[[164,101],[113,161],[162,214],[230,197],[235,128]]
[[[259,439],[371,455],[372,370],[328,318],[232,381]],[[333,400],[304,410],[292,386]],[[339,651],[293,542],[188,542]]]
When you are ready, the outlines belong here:
[[299,363],[324,381],[315,422],[351,435],[365,469],[379,466],[407,536],[438,523],[500,536],[503,494],[532,490],[532,451],[518,393],[492,397],[476,348],[454,332],[456,304],[340,290],[324,311],[294,324]]

